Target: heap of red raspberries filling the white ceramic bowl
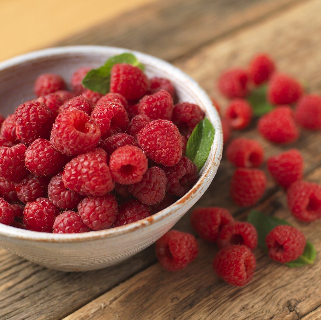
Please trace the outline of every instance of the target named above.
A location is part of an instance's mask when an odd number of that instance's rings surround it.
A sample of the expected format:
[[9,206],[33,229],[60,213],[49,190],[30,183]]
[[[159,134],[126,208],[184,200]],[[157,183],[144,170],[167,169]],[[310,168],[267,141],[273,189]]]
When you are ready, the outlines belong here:
[[[36,99],[1,119],[0,223],[53,233],[123,226],[174,203],[197,181],[187,139],[205,114],[176,103],[164,78],[115,64],[109,93],[42,74]],[[175,104],[175,103],[176,104]]]

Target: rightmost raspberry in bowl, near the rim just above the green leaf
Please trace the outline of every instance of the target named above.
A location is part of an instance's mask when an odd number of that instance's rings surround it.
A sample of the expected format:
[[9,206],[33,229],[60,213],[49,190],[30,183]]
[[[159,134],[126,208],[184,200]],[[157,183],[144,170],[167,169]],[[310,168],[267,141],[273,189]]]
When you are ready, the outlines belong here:
[[173,122],[187,138],[196,125],[205,117],[204,111],[194,103],[178,103],[173,110]]

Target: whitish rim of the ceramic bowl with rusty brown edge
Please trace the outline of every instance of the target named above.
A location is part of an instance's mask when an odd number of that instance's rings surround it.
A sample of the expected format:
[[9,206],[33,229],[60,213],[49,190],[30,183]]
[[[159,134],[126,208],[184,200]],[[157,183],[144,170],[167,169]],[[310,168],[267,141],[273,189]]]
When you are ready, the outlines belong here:
[[[176,74],[182,82],[189,83],[189,86],[191,86],[193,88],[193,91],[197,93],[197,96],[200,100],[204,102],[204,105],[209,106],[209,108],[206,109],[206,117],[212,123],[215,129],[215,135],[210,154],[202,169],[202,175],[199,177],[198,181],[192,187],[192,189],[190,189],[184,196],[182,196],[180,199],[178,199],[178,201],[176,201],[169,207],[153,214],[150,217],[146,217],[142,220],[130,223],[125,226],[118,226],[99,231],[90,231],[76,234],[53,234],[37,232],[32,230],[24,230],[0,224],[0,235],[15,239],[31,240],[37,242],[79,242],[99,238],[109,238],[112,236],[119,236],[130,233],[131,231],[134,231],[136,229],[147,227],[151,224],[157,223],[158,221],[165,219],[169,215],[174,214],[174,212],[176,212],[179,209],[179,207],[182,206],[183,203],[186,201],[193,201],[193,199],[196,199],[196,202],[207,189],[205,185],[210,185],[210,183],[212,182],[213,177],[216,174],[217,167],[219,166],[223,149],[223,134],[220,116],[216,108],[213,107],[213,103],[204,91],[204,89],[202,89],[193,78],[189,77],[186,73],[184,73],[179,68],[173,66],[171,63],[166,62],[160,58],[154,57],[152,55],[126,48],[99,45],[75,45],[48,48],[18,55],[16,57],[0,62],[0,71],[22,63],[32,62],[41,58],[47,58],[48,56],[59,56],[73,53],[110,54],[110,52],[112,52],[113,54],[129,52],[133,53],[138,58],[138,60],[142,60],[144,64],[146,64],[149,61],[157,63],[162,70],[168,70],[171,74]],[[212,106],[212,108],[210,108],[210,106]],[[204,192],[202,193],[203,190]]]

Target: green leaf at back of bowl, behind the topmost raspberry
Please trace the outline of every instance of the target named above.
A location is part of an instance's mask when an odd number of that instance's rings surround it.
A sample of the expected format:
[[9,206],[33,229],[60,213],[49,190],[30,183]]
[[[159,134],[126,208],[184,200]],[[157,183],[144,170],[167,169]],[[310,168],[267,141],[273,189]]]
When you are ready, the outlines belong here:
[[110,86],[110,71],[116,63],[128,63],[144,70],[143,64],[141,64],[132,53],[122,53],[109,58],[100,68],[90,70],[82,80],[83,86],[101,94],[108,93]]

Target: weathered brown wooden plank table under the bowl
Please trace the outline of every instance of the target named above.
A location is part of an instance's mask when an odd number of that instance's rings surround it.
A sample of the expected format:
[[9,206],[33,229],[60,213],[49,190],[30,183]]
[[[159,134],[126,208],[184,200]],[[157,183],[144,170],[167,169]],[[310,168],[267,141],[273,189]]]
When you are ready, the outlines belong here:
[[[162,0],[125,12],[52,45],[98,44],[137,49],[164,58],[195,78],[223,105],[214,82],[230,66],[245,66],[259,51],[280,70],[308,81],[321,93],[321,2],[319,0]],[[266,157],[290,147],[301,150],[309,181],[321,182],[321,133],[302,131],[293,145],[270,144],[256,124]],[[263,166],[265,169],[265,166]],[[236,219],[229,198],[233,168],[225,159],[196,206],[223,206]],[[321,250],[321,222],[291,217],[285,193],[270,179],[255,207],[286,218]],[[190,231],[189,214],[175,226]],[[321,319],[321,261],[290,269],[255,250],[257,269],[246,287],[219,280],[212,271],[217,249],[199,240],[200,254],[186,270],[163,271],[150,247],[116,267],[64,273],[0,250],[1,319]]]

